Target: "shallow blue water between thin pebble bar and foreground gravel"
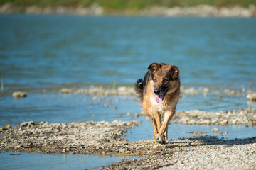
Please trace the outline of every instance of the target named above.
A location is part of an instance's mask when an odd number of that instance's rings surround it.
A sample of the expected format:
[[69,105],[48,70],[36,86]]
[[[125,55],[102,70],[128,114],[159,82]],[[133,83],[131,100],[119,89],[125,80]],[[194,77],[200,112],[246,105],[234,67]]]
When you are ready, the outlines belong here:
[[[75,121],[132,120],[126,113],[142,111],[135,96],[97,96],[84,94],[28,94],[26,98],[0,97],[0,125],[18,124],[24,121],[46,121],[48,123],[68,123]],[[104,100],[102,100],[104,98]],[[110,106],[106,108],[105,105]],[[117,109],[114,109],[114,106]],[[188,95],[178,102],[177,111],[203,110],[225,111],[246,107],[256,107],[247,103],[245,95],[223,96]],[[151,126],[151,125],[150,125]]]

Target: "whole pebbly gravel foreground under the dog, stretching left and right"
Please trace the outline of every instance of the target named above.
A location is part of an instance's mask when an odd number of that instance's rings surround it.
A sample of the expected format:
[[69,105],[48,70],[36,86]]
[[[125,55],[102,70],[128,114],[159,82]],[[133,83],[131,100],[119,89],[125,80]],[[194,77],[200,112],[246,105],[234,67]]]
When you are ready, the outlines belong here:
[[0,129],[0,150],[139,157],[104,169],[256,169],[256,134],[242,140],[221,140],[197,132],[187,139],[168,140],[166,145],[122,138],[139,124],[114,120],[5,125]]

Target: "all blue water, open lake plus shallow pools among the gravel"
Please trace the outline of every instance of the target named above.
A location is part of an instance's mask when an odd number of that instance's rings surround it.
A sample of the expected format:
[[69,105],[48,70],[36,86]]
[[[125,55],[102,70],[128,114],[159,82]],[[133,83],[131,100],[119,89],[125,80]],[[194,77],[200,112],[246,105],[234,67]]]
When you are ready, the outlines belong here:
[[[105,99],[93,101],[90,95],[59,94],[58,90],[91,85],[111,87],[113,79],[118,86],[132,86],[144,77],[152,62],[176,64],[185,87],[256,90],[255,28],[256,18],[0,15],[0,75],[4,76],[0,125],[30,120],[138,120],[142,125],[131,129],[125,139],[152,140],[150,120],[126,115],[141,111],[134,96],[97,96]],[[46,94],[41,92],[43,89]],[[28,97],[12,98],[11,93],[17,90],[28,92]],[[256,107],[255,103],[247,103],[245,93],[220,95],[221,98],[214,93],[182,95],[177,110]],[[104,104],[112,107],[105,108]],[[190,132],[210,131],[214,127],[171,124],[169,138],[190,137]],[[255,136],[255,127],[217,128],[228,132],[225,140]],[[0,153],[4,162],[0,169],[99,169],[122,159],[9,154]]]

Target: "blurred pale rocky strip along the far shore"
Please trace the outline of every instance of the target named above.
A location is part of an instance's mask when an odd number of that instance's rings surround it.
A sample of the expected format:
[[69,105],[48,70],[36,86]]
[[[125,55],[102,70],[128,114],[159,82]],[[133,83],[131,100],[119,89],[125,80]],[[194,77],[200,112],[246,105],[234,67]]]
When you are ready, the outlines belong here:
[[0,6],[0,13],[28,13],[28,14],[68,14],[80,16],[199,16],[199,17],[242,17],[256,16],[256,7],[250,5],[248,8],[239,6],[216,7],[210,5],[199,5],[191,7],[174,6],[171,8],[152,6],[142,9],[110,10],[102,8],[97,4],[89,7],[40,7],[40,6],[11,6],[4,4]]

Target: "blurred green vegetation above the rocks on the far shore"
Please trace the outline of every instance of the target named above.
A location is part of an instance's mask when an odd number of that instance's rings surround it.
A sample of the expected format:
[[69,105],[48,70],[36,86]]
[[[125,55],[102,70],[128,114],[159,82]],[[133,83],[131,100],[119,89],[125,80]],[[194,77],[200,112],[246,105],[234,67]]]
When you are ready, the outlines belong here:
[[142,9],[150,6],[198,6],[208,4],[212,6],[242,6],[248,7],[251,4],[256,5],[256,0],[0,0],[0,5],[6,3],[11,6],[91,6],[97,3],[105,9],[122,10],[122,9]]

